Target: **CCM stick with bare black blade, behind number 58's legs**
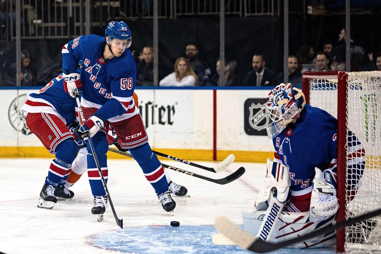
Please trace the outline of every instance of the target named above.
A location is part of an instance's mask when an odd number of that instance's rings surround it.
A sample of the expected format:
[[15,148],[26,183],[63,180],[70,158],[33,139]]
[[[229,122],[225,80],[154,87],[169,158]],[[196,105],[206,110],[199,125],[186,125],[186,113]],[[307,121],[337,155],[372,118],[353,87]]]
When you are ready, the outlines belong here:
[[[130,158],[133,158],[132,155],[129,154],[129,153],[125,153],[125,152],[122,152],[122,151],[119,151],[119,150],[116,150],[116,149],[113,149],[113,148],[109,148],[109,151],[113,152],[113,153],[122,154],[122,155],[128,156]],[[209,182],[218,183],[218,184],[226,184],[226,183],[233,182],[234,180],[237,180],[241,175],[243,175],[243,173],[245,173],[245,168],[244,167],[240,167],[239,169],[237,169],[237,171],[233,172],[232,174],[228,175],[227,177],[224,177],[224,178],[221,178],[221,179],[213,179],[213,178],[209,178],[209,177],[206,177],[206,176],[203,176],[203,175],[198,175],[198,174],[189,172],[189,171],[184,170],[184,169],[179,169],[178,167],[169,166],[169,165],[166,165],[166,164],[163,164],[163,163],[162,163],[162,166],[165,167],[166,169],[171,169],[171,170],[180,172],[182,174],[191,175],[191,176],[194,176],[194,177],[197,177],[197,178],[201,178],[201,179],[207,180]]]

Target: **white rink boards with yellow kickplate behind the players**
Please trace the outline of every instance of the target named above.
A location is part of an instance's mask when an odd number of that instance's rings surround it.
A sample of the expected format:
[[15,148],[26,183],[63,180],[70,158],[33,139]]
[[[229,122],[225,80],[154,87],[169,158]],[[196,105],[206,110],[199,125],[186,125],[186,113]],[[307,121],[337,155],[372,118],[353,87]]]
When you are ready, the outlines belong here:
[[[273,151],[265,130],[269,119],[264,102],[269,91],[244,87],[138,88],[136,93],[152,148],[187,159],[210,160],[214,154],[221,160],[233,153],[239,161],[264,162]],[[27,130],[25,114],[20,110],[33,92],[38,90],[0,90],[2,156],[49,156],[38,138]],[[119,158],[117,154],[108,156]]]

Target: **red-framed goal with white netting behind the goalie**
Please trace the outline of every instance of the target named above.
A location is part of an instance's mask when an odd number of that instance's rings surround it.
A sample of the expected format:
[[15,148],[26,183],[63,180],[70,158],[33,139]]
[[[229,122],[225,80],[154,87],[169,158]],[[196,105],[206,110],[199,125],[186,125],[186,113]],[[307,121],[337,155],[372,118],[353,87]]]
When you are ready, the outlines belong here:
[[[340,208],[337,220],[380,209],[381,71],[304,72],[303,92],[308,104],[338,119],[337,197]],[[363,152],[355,156],[355,149],[348,146],[353,135],[363,146]],[[359,161],[361,163],[357,163]],[[355,191],[349,191],[351,189]],[[380,251],[381,217],[338,230],[336,249],[338,252]]]

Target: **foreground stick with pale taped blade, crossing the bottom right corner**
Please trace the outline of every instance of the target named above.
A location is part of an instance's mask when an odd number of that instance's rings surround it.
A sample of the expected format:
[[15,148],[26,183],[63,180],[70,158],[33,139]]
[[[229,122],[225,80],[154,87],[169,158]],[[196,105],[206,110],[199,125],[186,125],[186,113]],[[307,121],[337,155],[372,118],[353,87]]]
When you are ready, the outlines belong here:
[[315,236],[323,235],[324,233],[332,232],[340,228],[347,227],[349,225],[355,224],[362,220],[369,219],[371,217],[375,217],[381,214],[381,209],[375,210],[373,212],[363,214],[359,217],[351,218],[349,220],[339,222],[335,225],[328,225],[326,227],[320,228],[314,232],[308,233],[303,236],[299,236],[298,238],[294,238],[291,240],[279,242],[279,243],[269,243],[264,242],[258,239],[257,236],[253,236],[250,233],[243,231],[236,225],[234,225],[229,219],[224,216],[219,216],[215,220],[216,228],[227,236],[234,243],[238,244],[244,249],[249,249],[250,251],[255,251],[259,253],[274,251],[276,249],[280,249],[286,247],[291,244],[300,243],[304,240],[310,239]]

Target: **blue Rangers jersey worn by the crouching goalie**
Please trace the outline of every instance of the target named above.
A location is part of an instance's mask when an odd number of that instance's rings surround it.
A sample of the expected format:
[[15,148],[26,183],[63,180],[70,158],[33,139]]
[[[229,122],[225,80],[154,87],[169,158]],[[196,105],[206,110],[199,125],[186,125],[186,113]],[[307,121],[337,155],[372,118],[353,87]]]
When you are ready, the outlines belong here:
[[[308,198],[312,191],[315,167],[331,169],[336,175],[337,120],[326,111],[309,104],[304,106],[295,123],[273,138],[274,161],[287,166],[291,178],[290,194],[300,199]],[[351,131],[349,131],[351,132]],[[353,133],[349,133],[348,151],[354,156],[348,161],[349,170],[359,170],[352,188],[363,174],[365,151]],[[336,180],[336,179],[335,179]],[[350,187],[351,188],[351,187]]]

